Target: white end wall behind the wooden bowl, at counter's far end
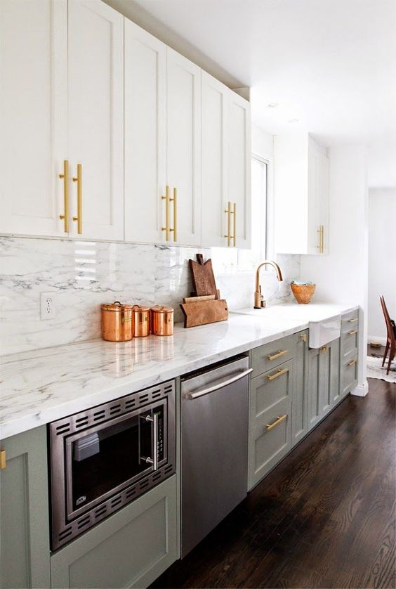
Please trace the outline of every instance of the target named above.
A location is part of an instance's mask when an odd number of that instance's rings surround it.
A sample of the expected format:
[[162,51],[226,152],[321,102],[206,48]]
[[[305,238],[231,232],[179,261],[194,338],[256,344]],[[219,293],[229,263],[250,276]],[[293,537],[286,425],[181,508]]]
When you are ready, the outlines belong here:
[[356,394],[366,394],[368,307],[367,150],[329,149],[329,254],[301,256],[301,278],[317,285],[317,301],[359,304],[359,375]]

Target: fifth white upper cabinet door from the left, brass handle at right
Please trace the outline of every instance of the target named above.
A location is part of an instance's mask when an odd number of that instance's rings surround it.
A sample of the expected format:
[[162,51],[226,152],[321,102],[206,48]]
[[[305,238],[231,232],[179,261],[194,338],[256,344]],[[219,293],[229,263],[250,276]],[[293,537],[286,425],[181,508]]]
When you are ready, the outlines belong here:
[[[227,245],[227,86],[202,71],[202,245]],[[230,242],[232,245],[232,242]]]

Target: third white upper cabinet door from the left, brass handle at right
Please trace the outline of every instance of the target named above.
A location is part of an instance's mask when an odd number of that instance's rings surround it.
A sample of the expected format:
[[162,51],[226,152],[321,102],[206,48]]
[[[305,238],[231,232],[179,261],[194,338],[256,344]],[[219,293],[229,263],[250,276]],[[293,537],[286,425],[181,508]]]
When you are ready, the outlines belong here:
[[166,45],[125,19],[125,239],[165,233]]

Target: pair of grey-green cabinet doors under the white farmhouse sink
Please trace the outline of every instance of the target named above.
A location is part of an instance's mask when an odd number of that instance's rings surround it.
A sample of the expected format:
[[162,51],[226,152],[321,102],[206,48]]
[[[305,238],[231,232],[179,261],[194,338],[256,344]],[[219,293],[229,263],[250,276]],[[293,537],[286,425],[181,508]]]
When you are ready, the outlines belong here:
[[308,431],[315,427],[340,397],[340,340],[308,353]]

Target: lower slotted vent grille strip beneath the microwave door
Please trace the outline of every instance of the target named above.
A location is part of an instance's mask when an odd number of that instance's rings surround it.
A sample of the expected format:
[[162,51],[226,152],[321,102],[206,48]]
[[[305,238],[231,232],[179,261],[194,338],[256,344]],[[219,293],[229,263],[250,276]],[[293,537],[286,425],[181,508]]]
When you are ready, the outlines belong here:
[[105,517],[113,514],[114,512],[124,507],[128,503],[131,503],[138,496],[148,491],[153,486],[159,484],[160,481],[164,481],[175,472],[173,464],[161,467],[159,470],[153,472],[150,477],[147,477],[144,481],[136,483],[131,487],[124,489],[121,493],[108,499],[105,503],[99,505],[99,507],[93,508],[90,512],[81,515],[74,522],[68,524],[63,528],[56,536],[53,537],[53,550],[57,550],[61,546],[70,542],[75,536],[79,536],[83,531],[90,529],[91,527],[101,522]]

